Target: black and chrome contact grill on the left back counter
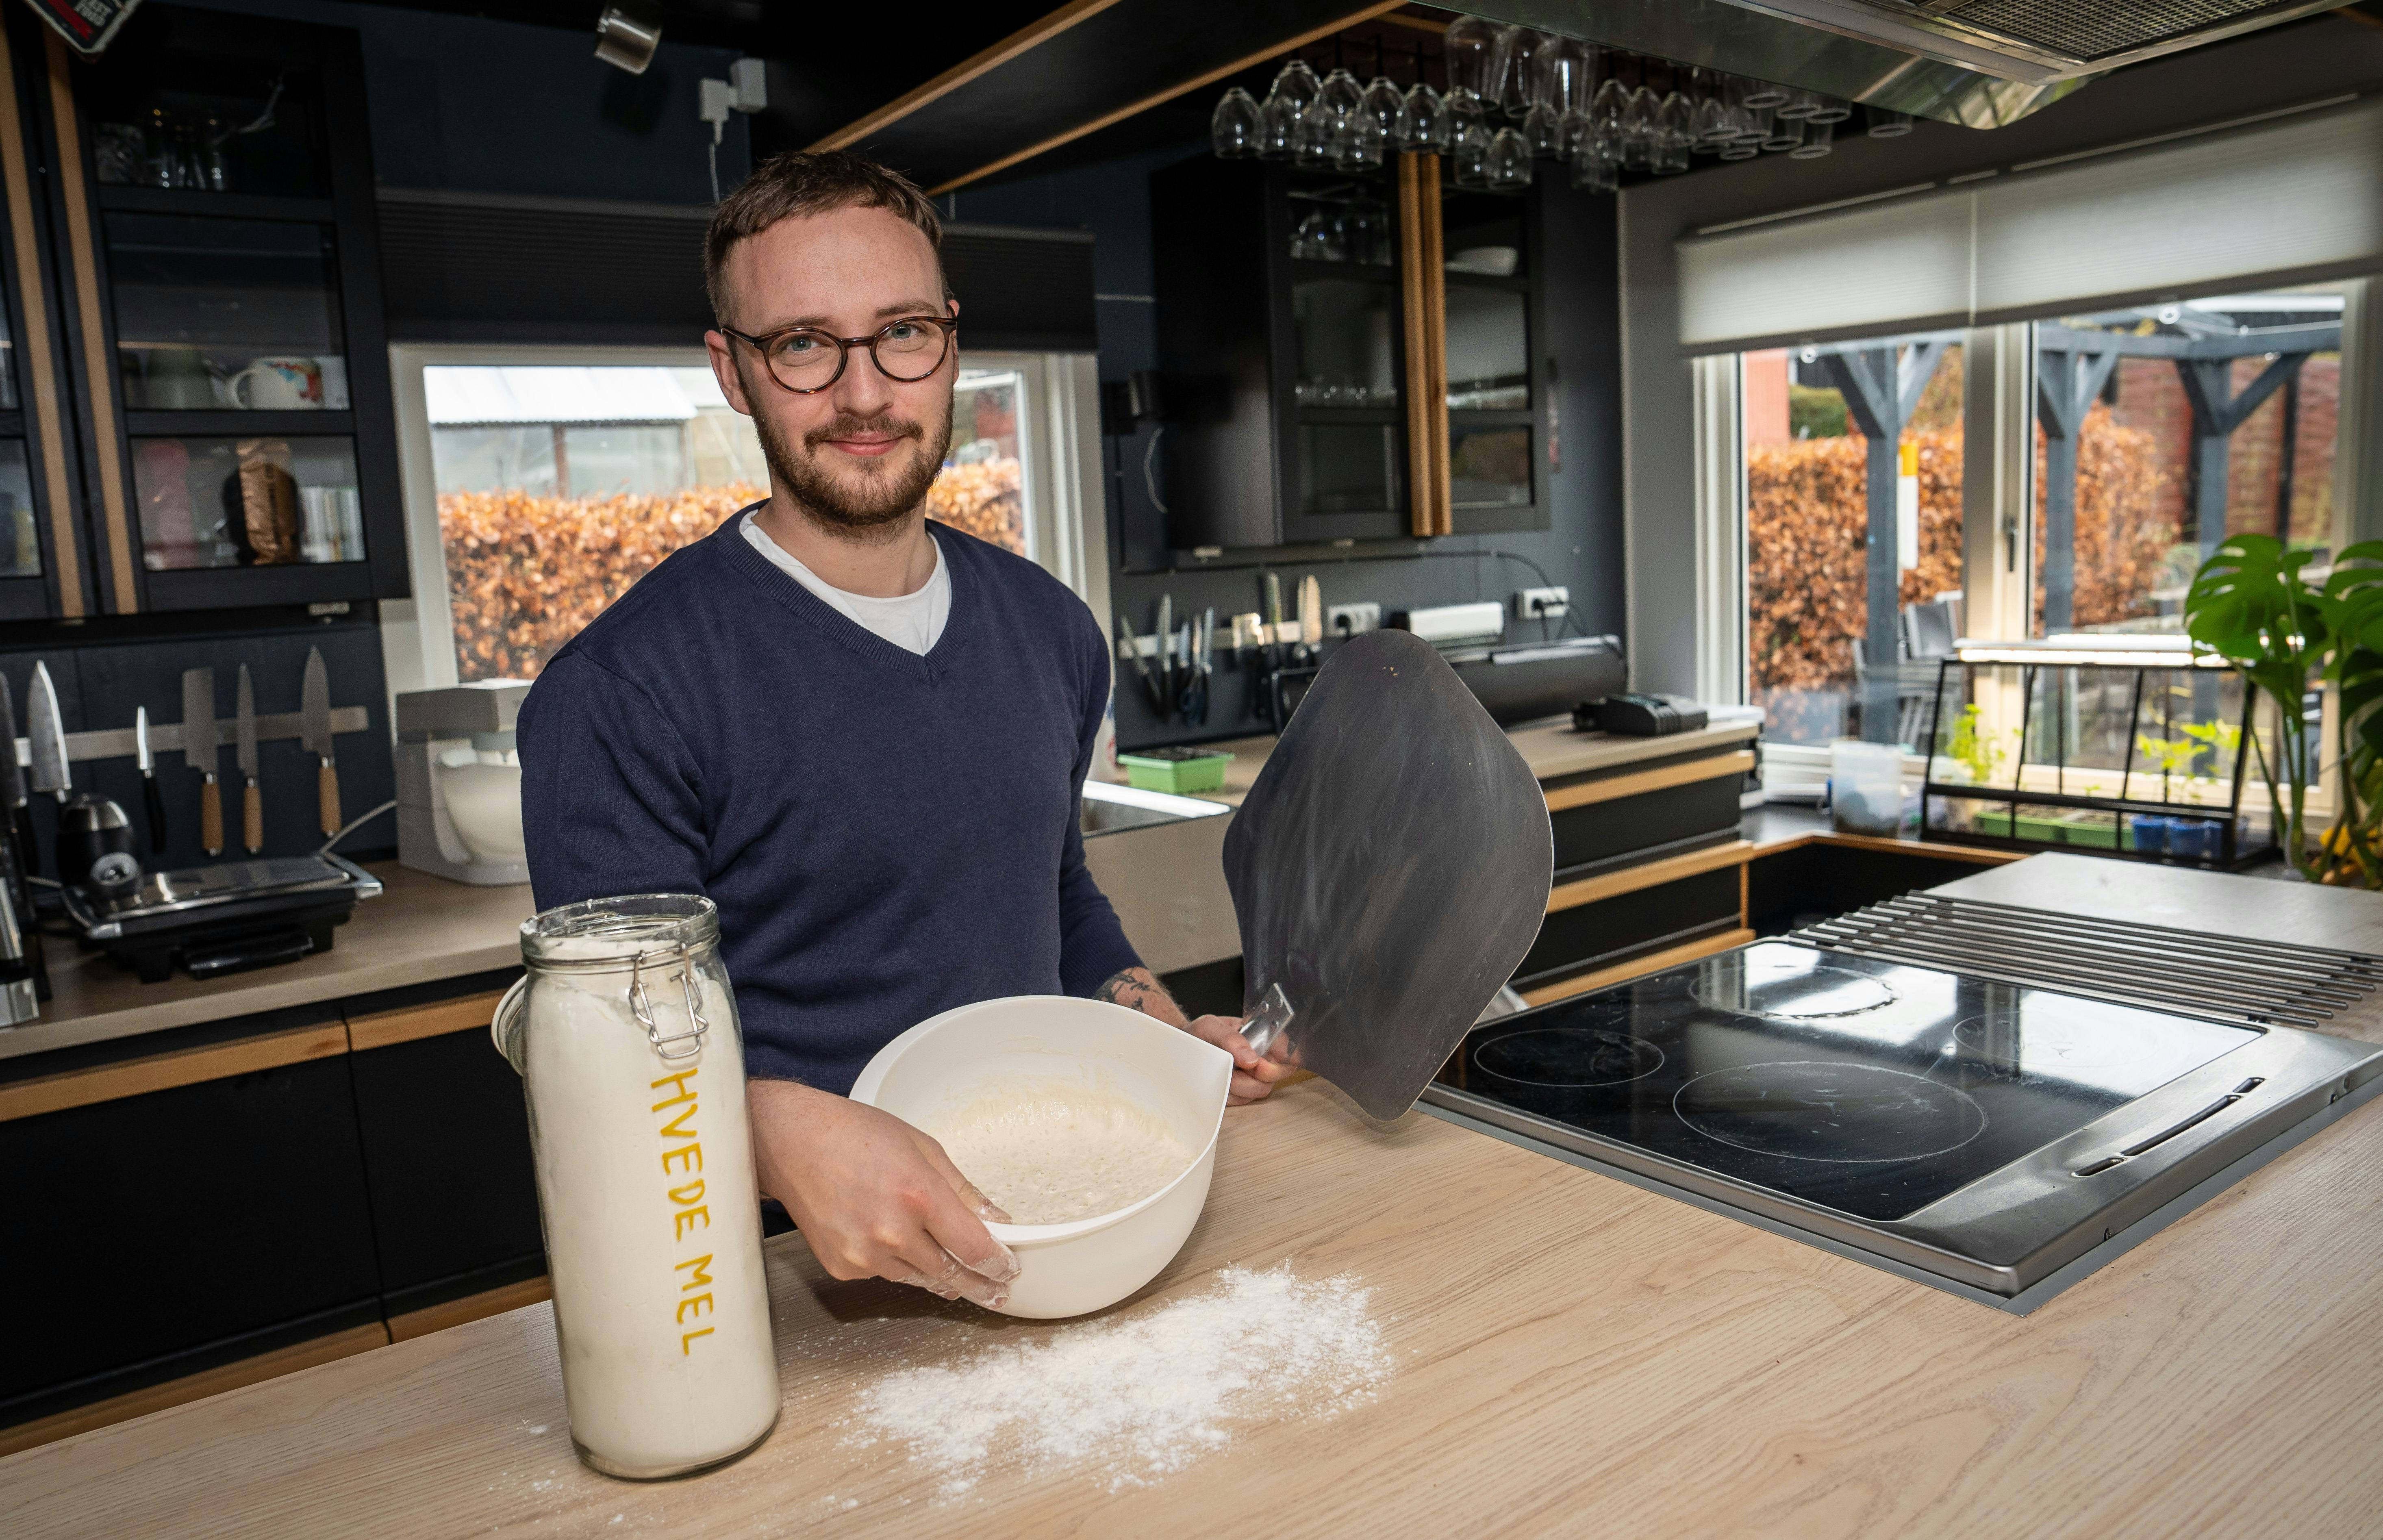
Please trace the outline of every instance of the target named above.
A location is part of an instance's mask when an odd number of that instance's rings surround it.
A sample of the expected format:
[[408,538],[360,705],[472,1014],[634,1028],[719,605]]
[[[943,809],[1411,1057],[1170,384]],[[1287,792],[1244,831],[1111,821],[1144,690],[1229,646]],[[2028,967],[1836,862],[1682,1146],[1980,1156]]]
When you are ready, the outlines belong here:
[[122,894],[64,889],[64,903],[86,944],[162,985],[176,965],[217,977],[331,951],[331,930],[379,894],[379,877],[324,853],[148,873]]

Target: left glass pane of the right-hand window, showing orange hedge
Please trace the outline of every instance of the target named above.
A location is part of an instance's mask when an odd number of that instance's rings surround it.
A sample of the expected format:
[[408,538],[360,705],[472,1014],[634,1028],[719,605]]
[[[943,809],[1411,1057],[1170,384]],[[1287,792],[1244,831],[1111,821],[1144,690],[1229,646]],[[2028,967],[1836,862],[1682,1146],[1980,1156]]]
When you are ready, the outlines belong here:
[[[1930,658],[1961,632],[1959,334],[1742,353],[1740,422],[1747,701],[1766,739],[1914,741]],[[1873,496],[1878,467],[1892,486]],[[1880,615],[1873,539],[1894,558]]]

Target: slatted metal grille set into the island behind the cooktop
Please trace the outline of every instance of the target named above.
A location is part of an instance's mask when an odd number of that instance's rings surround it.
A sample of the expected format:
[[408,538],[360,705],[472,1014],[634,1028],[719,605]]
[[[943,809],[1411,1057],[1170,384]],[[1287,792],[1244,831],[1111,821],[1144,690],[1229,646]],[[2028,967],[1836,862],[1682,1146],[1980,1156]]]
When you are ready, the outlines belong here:
[[1787,942],[2245,1025],[2323,1027],[2371,1004],[2383,958],[2130,920],[1904,894]]

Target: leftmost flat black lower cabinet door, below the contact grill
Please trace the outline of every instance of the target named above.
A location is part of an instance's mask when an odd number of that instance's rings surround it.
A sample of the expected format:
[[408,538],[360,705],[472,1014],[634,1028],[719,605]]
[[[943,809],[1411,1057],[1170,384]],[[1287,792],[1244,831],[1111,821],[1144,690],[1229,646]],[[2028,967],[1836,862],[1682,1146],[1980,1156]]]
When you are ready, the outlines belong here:
[[379,1318],[346,1058],[0,1123],[0,1423]]

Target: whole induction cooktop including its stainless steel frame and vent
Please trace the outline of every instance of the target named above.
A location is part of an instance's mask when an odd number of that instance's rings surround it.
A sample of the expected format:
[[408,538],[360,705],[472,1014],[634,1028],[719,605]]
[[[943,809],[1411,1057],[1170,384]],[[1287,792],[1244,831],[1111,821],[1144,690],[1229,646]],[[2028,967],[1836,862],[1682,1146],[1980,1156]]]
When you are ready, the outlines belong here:
[[1485,1020],[1423,1101],[2033,1309],[2383,1092],[2364,1042],[2014,977],[1756,942]]

